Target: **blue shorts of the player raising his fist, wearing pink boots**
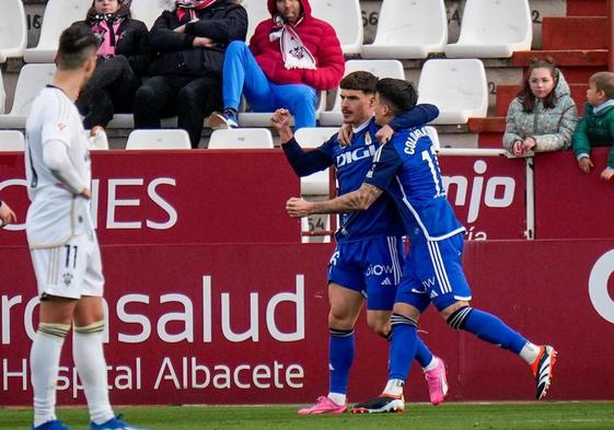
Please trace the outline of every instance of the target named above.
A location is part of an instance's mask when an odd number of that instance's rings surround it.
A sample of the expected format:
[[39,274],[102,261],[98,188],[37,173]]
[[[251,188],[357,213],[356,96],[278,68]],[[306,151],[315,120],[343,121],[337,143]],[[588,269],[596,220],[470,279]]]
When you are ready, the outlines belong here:
[[328,282],[362,293],[370,311],[391,311],[403,255],[403,240],[397,236],[337,244],[328,263]]

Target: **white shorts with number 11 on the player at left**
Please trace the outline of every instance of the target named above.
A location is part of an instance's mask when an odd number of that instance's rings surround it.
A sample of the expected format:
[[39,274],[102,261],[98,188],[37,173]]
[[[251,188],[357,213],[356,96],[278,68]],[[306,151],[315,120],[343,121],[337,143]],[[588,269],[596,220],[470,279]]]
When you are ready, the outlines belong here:
[[31,249],[30,256],[39,297],[80,299],[81,295],[103,295],[104,277],[95,233],[73,236],[57,247]]

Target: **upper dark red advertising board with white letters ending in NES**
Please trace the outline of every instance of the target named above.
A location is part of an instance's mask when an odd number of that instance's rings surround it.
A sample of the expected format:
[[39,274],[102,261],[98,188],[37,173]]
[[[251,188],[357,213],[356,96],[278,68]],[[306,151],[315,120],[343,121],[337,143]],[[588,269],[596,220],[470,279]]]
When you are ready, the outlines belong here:
[[[105,151],[92,162],[102,244],[300,242],[285,210],[299,179],[279,150]],[[0,196],[24,222],[23,155],[0,164]],[[24,229],[0,230],[0,244],[25,244]]]

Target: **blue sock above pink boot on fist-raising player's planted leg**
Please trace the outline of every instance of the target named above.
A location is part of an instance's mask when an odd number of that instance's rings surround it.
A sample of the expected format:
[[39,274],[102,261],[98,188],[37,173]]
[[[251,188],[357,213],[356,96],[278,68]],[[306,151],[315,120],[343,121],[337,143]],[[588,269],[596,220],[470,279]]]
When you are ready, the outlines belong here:
[[339,330],[329,328],[328,360],[331,364],[331,393],[346,394],[348,390],[349,369],[354,361],[354,329]]

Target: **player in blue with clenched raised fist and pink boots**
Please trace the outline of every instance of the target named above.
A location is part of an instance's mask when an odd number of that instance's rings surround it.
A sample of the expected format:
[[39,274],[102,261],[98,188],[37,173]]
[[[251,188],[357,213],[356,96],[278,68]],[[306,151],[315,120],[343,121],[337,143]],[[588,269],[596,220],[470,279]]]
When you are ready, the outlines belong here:
[[[366,71],[348,74],[340,82],[344,123],[351,125],[350,144],[340,144],[337,135],[313,151],[305,152],[290,128],[290,114],[279,109],[271,118],[279,131],[281,147],[297,175],[336,167],[339,195],[360,187],[379,148],[380,129],[373,117],[378,78]],[[420,105],[399,115],[399,126],[413,126],[435,119],[432,105]],[[393,125],[394,126],[394,125]],[[367,298],[367,322],[379,335],[390,338],[390,315],[401,280],[404,247],[403,223],[389,198],[379,199],[367,211],[340,216],[337,246],[328,265],[329,393],[315,405],[300,409],[301,415],[340,414],[347,409],[346,393],[354,359],[354,327]],[[416,359],[422,367],[433,405],[443,402],[448,392],[445,368],[417,339]],[[403,411],[404,404],[396,405]]]

